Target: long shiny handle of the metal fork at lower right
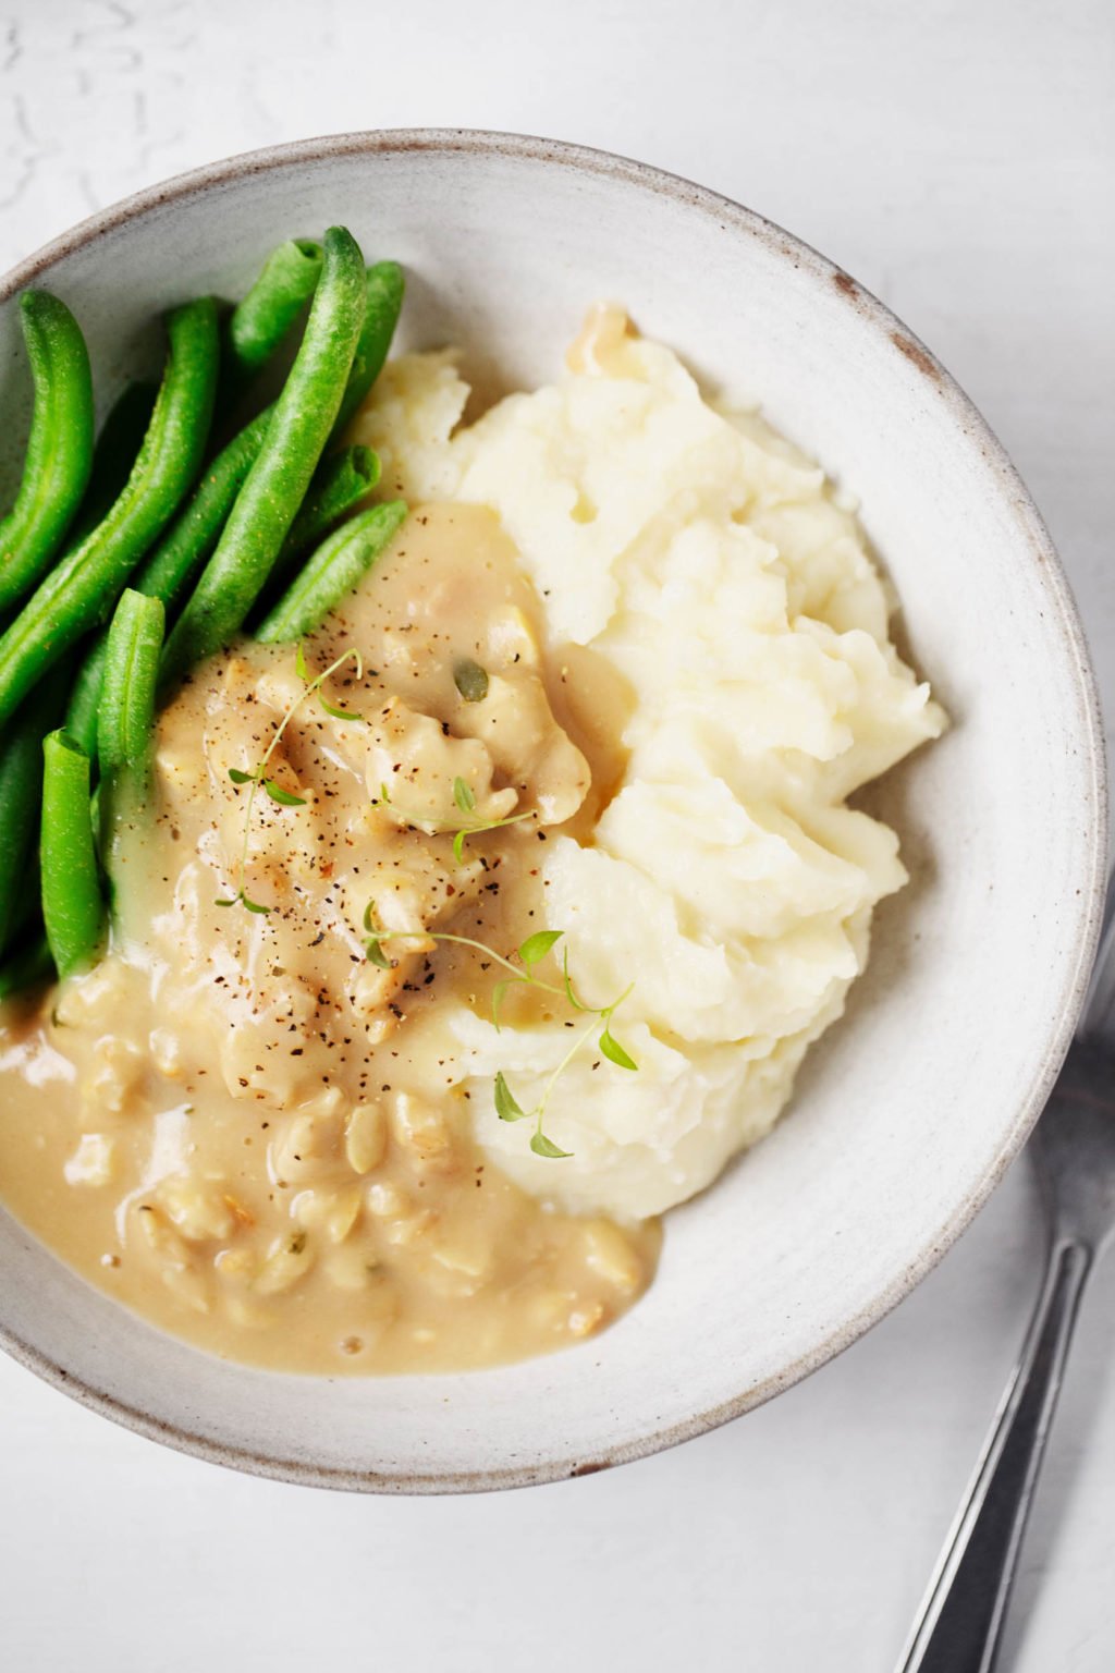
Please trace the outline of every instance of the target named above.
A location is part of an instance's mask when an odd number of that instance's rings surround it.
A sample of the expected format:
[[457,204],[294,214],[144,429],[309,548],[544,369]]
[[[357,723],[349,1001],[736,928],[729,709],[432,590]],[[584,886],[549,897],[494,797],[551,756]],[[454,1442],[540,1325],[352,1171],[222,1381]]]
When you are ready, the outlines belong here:
[[899,1673],[991,1673],[1092,1250],[1053,1240],[1021,1358],[944,1541]]

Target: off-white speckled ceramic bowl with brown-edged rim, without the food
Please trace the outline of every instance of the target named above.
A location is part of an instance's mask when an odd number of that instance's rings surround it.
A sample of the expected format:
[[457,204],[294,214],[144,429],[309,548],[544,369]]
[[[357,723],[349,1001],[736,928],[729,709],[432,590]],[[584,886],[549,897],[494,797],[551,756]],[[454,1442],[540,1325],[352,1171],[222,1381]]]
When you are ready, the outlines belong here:
[[[1098,922],[1107,798],[1065,577],[1025,487],[933,356],[854,279],[747,209],[639,164],[473,132],[236,157],[87,221],[0,291],[5,448],[25,403],[13,296],[57,289],[99,386],[157,310],[236,294],[343,221],[406,264],[405,341],[460,341],[491,388],[553,376],[587,303],[769,418],[863,500],[911,652],[955,726],[874,803],[911,887],[777,1131],[669,1220],[607,1335],[461,1377],[279,1377],[160,1335],[0,1215],[0,1328],[57,1387],[224,1464],[425,1492],[585,1474],[724,1422],[853,1342],[939,1258],[1035,1121]],[[475,368],[473,368],[475,370]]]

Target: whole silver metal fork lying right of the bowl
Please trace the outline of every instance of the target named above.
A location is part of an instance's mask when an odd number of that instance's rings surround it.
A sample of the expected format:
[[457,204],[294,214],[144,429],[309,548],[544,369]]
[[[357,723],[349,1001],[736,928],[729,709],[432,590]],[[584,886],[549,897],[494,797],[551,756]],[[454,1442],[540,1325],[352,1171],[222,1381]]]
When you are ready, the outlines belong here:
[[1115,873],[1077,1039],[1030,1149],[1045,1283],[899,1673],[993,1673],[1080,1300],[1115,1235]]

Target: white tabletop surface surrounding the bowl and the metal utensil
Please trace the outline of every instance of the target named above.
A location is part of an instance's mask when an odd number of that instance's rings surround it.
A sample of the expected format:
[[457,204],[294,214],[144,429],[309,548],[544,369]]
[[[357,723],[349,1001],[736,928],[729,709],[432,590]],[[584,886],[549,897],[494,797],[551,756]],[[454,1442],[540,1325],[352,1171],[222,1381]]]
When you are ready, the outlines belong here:
[[[7,0],[0,266],[167,174],[343,129],[512,129],[687,174],[839,261],[973,395],[1051,525],[1115,718],[1113,18],[1108,0]],[[889,1673],[1041,1241],[1023,1159],[896,1315],[774,1405],[500,1497],[224,1474],[5,1360],[0,1663]],[[1115,1666],[1113,1350],[1115,1263],[1003,1673]]]

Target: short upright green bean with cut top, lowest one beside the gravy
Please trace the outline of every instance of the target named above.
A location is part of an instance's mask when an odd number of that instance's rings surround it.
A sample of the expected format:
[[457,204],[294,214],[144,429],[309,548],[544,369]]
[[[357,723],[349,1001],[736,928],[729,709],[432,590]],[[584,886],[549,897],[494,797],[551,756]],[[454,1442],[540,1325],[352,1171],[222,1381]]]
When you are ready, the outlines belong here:
[[59,975],[87,969],[104,942],[105,908],[89,811],[89,756],[64,731],[47,733],[42,785],[42,910]]

